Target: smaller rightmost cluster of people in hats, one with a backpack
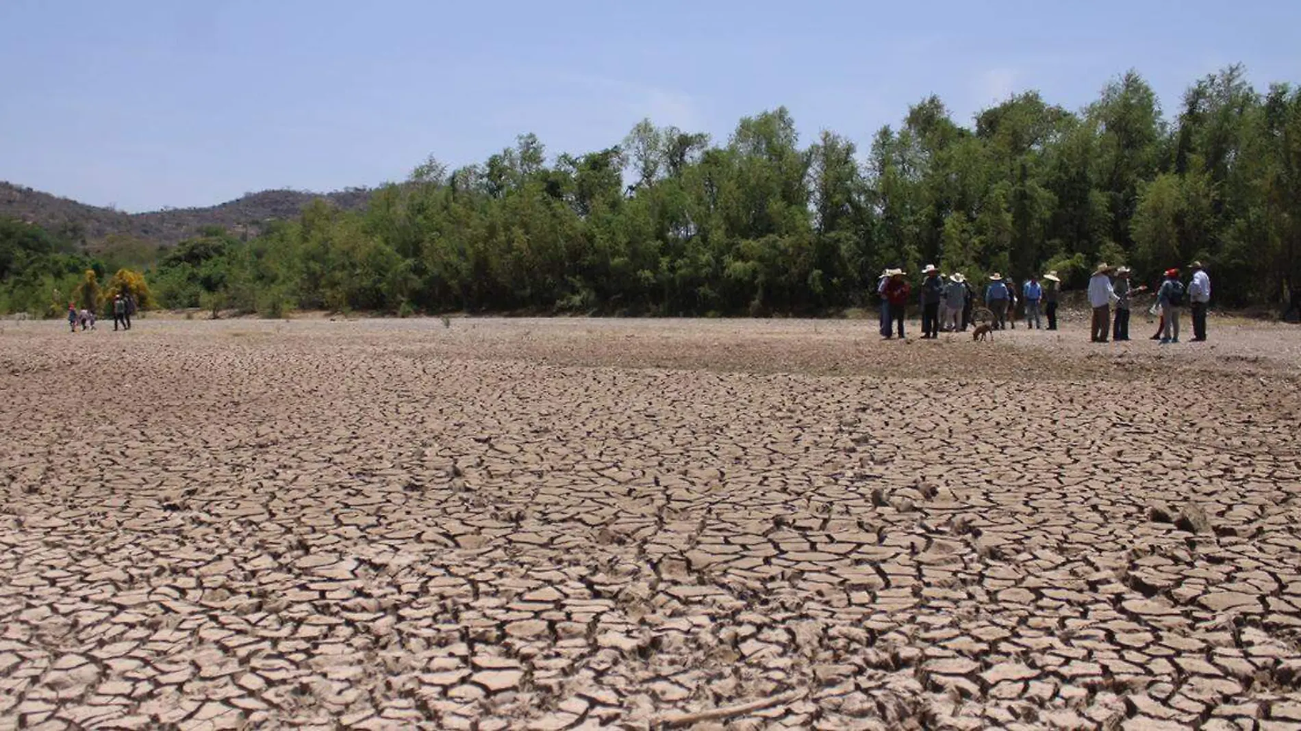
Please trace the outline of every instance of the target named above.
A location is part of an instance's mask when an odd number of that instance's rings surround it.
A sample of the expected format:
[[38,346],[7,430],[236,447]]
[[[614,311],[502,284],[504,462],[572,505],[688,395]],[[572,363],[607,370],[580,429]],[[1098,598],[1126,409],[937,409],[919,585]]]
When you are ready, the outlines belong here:
[[[1162,345],[1179,342],[1179,312],[1185,306],[1193,315],[1193,342],[1206,342],[1206,307],[1211,300],[1211,278],[1201,261],[1193,261],[1188,268],[1193,271],[1193,276],[1187,285],[1180,280],[1179,269],[1166,269],[1157,287],[1155,310],[1160,315],[1160,321],[1151,339],[1158,339]],[[1129,339],[1129,298],[1147,291],[1145,286],[1133,286],[1129,274],[1128,267],[1098,264],[1093,277],[1089,278],[1093,342],[1107,342],[1108,330],[1111,339]],[[1112,306],[1115,317],[1111,313]]]

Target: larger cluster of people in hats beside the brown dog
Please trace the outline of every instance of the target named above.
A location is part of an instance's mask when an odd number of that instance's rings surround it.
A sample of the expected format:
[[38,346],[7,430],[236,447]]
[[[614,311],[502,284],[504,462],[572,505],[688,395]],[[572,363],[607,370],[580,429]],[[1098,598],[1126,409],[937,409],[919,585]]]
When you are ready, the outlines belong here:
[[[881,337],[891,339],[895,329],[904,337],[904,315],[912,285],[903,269],[886,269],[877,280],[877,294],[881,297]],[[1056,329],[1058,285],[1062,282],[1056,272],[1038,276],[1016,286],[1010,277],[994,273],[982,293],[985,306],[993,313],[990,326],[998,330],[1016,326],[1017,303],[1025,306],[1025,325],[1042,328],[1047,317],[1047,329]],[[922,271],[921,281],[921,329],[922,339],[934,339],[941,332],[967,332],[972,325],[972,310],[977,293],[961,272],[947,277],[933,264]]]

